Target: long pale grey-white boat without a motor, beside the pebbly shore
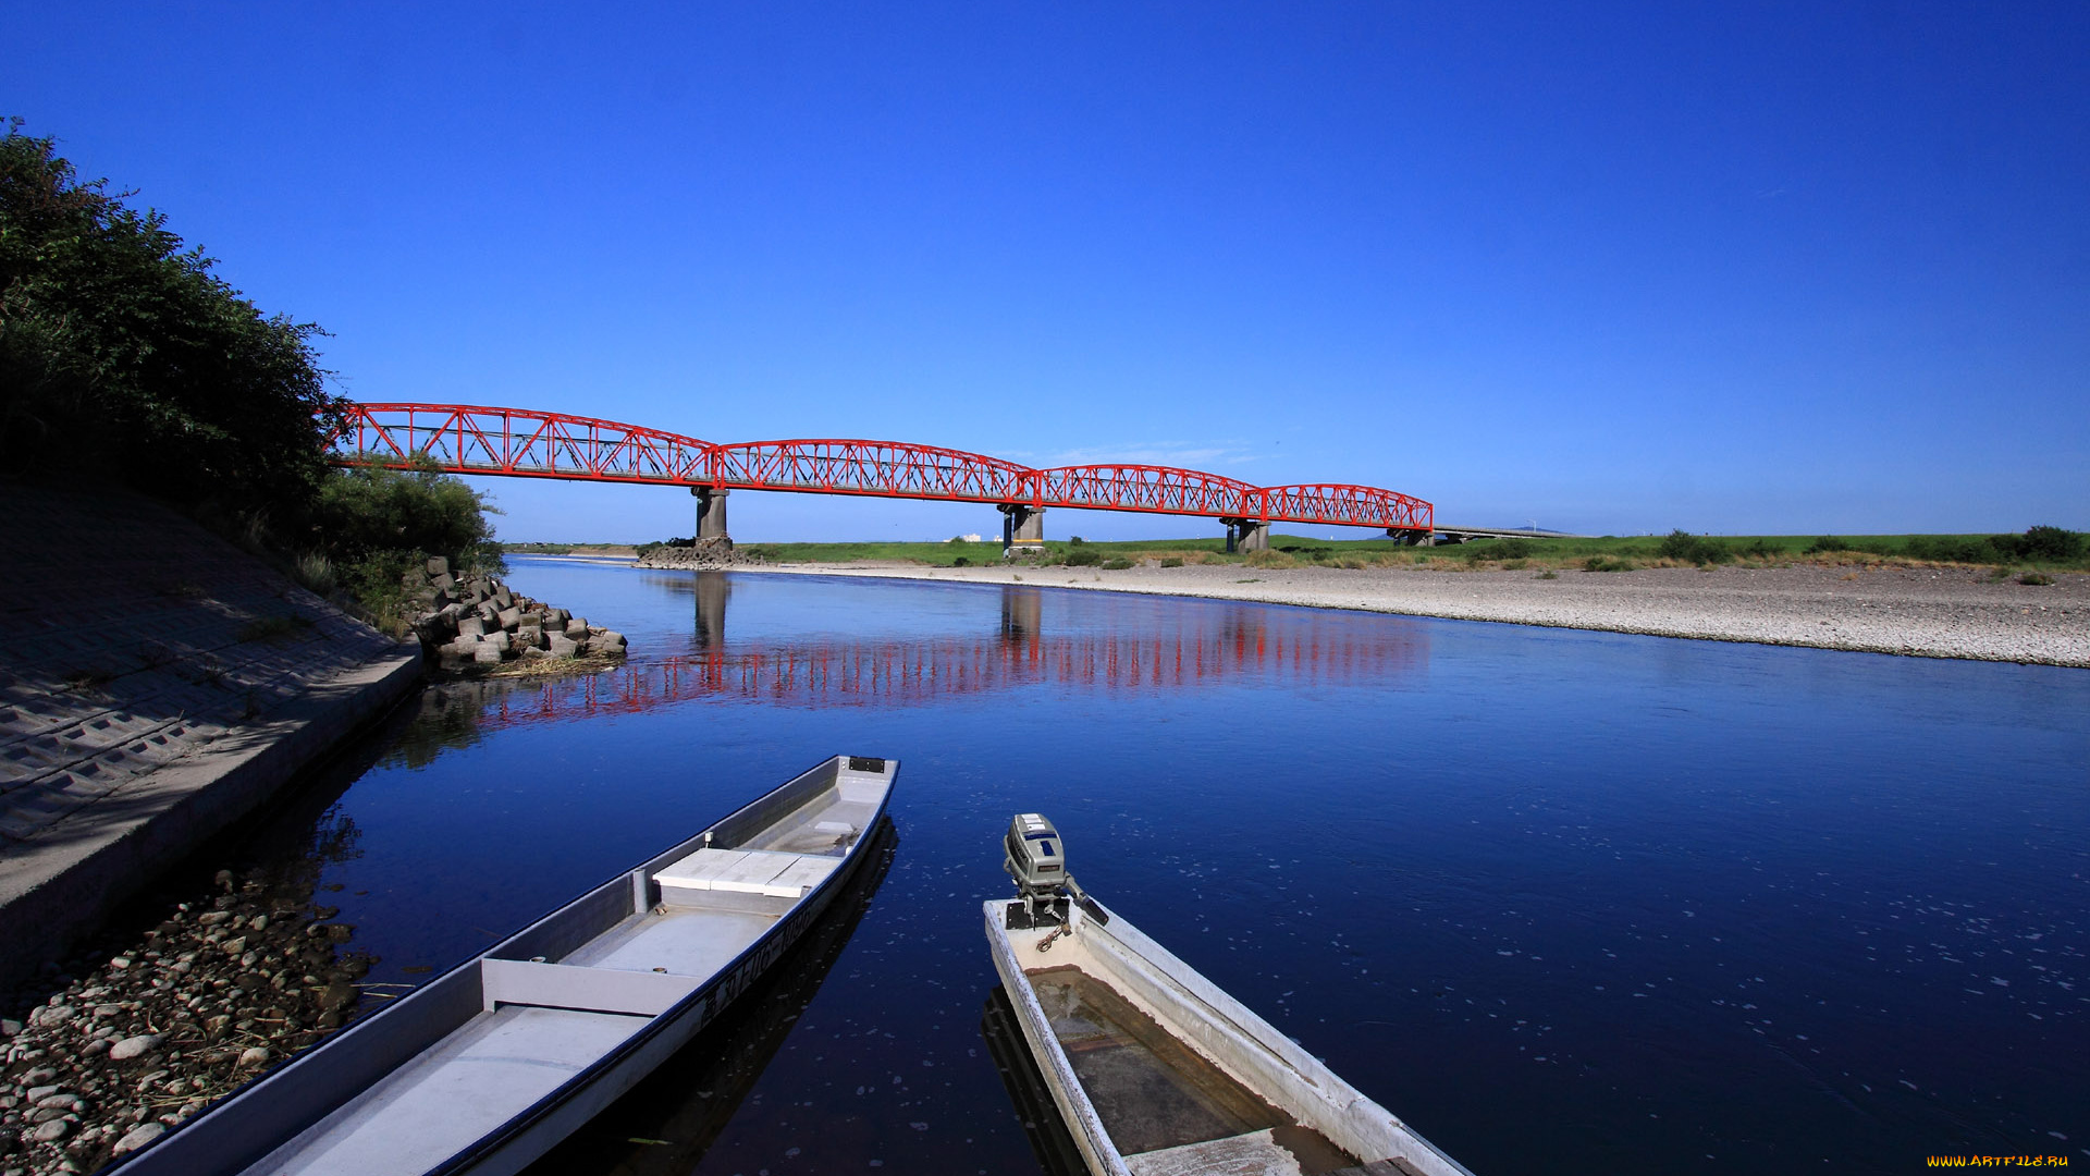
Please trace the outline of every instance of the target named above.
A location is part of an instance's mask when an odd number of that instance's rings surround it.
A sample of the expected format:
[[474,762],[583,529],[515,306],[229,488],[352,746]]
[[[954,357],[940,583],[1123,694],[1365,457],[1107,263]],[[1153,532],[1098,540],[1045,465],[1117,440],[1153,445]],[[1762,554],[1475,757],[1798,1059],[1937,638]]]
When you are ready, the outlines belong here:
[[[683,1046],[869,856],[895,760],[836,755],[117,1163],[510,1174]],[[644,820],[644,814],[633,814]]]

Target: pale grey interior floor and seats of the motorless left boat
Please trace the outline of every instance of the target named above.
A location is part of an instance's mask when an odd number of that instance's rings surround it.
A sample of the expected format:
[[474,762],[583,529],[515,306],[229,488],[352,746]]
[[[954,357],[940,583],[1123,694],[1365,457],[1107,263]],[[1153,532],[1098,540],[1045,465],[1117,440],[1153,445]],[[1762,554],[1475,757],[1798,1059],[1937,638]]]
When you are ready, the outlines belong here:
[[447,973],[391,1019],[410,1040],[376,1042],[391,1057],[368,1088],[249,1172],[426,1172],[472,1147],[761,942],[842,866],[888,789],[884,762],[838,757]]

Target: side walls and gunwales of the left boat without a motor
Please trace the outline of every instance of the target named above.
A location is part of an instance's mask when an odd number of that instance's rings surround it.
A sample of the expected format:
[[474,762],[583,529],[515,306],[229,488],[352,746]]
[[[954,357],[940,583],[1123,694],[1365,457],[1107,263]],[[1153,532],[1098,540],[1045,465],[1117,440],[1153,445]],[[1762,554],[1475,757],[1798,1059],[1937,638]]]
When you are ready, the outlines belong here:
[[[865,764],[865,768],[857,768],[857,764]],[[872,770],[869,764],[878,768]],[[805,927],[821,914],[828,902],[869,856],[867,847],[880,839],[892,783],[899,776],[899,760],[853,755],[823,760],[811,770],[744,804],[709,829],[533,919],[520,931],[458,963],[385,1009],[357,1017],[286,1065],[251,1080],[205,1113],[167,1132],[150,1147],[119,1159],[104,1172],[125,1170],[140,1176],[159,1170],[184,1174],[247,1172],[255,1163],[272,1159],[280,1149],[301,1138],[303,1132],[336,1115],[391,1073],[489,1011],[489,973],[485,969],[489,960],[529,965],[556,960],[575,952],[617,929],[619,923],[654,910],[665,898],[660,885],[652,881],[658,870],[690,858],[698,850],[734,845],[742,837],[782,824],[790,814],[819,799],[828,789],[840,789],[844,776],[859,783],[876,778],[880,795],[861,829],[842,847],[844,852],[836,858],[838,864],[826,877],[807,887],[796,900],[754,898],[750,912],[769,912],[775,919],[750,944],[721,963],[709,977],[696,981],[679,998],[667,1002],[658,1013],[631,1013],[633,1017],[644,1015],[644,1025],[594,1061],[581,1065],[571,1078],[531,1105],[481,1134],[472,1145],[424,1172],[435,1176],[466,1170],[512,1172],[522,1168],[535,1159],[535,1153],[571,1134],[573,1128],[598,1113],[602,1105],[686,1044],[798,940]],[[788,906],[784,906],[786,902]],[[652,979],[650,973],[625,975]],[[669,977],[660,979],[667,981]],[[552,1009],[558,1007],[554,1004]],[[658,1057],[635,1067],[635,1055],[648,1048]],[[610,1082],[606,1078],[612,1076],[617,1082],[614,1088],[608,1088]],[[604,1096],[589,1096],[589,1088],[594,1086],[604,1086]],[[533,1151],[514,1153],[512,1145],[518,1145],[525,1136],[537,1136],[531,1143]]]

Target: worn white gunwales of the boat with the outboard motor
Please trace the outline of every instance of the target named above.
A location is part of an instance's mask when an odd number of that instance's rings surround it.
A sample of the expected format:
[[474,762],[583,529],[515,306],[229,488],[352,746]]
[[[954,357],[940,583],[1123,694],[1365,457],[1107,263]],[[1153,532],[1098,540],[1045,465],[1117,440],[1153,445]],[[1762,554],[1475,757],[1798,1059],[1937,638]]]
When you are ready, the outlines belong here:
[[[1089,902],[1095,902],[1089,898]],[[986,940],[1001,988],[1016,1011],[1016,1023],[1039,1063],[1045,1086],[1070,1128],[1074,1145],[1095,1176],[1133,1176],[1118,1153],[1101,1113],[1091,1103],[1072,1059],[1051,1030],[1051,1019],[1030,981],[1030,971],[1072,963],[1068,956],[1037,956],[1039,927],[1012,931],[1007,912],[1022,900],[991,900],[982,906]],[[1344,1082],[1298,1042],[1258,1017],[1193,967],[1124,921],[1095,904],[1106,921],[1091,919],[1081,904],[1062,904],[1072,927],[1070,942],[1099,967],[1081,969],[1177,1038],[1183,1046],[1241,1082],[1244,1088],[1319,1130],[1358,1157],[1358,1163],[1398,1161],[1421,1176],[1473,1176],[1465,1166],[1409,1128],[1398,1115]],[[1030,967],[1026,967],[1026,960]],[[1200,1036],[1198,1027],[1210,1034]],[[1216,1038],[1216,1040],[1214,1040]],[[1233,1046],[1233,1048],[1229,1048]],[[1246,1048],[1244,1048],[1246,1046]],[[1267,1059],[1250,1069],[1248,1059]],[[1287,1076],[1294,1076],[1296,1082]],[[1363,1130],[1358,1130],[1363,1128]],[[1377,1151],[1377,1155],[1371,1155]]]

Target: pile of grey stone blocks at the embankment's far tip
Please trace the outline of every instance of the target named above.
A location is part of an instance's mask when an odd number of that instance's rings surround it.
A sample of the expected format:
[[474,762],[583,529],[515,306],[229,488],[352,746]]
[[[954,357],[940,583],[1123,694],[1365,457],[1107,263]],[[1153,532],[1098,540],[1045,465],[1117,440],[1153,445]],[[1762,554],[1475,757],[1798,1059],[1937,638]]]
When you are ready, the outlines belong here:
[[428,567],[408,573],[408,601],[420,642],[443,670],[491,670],[504,661],[623,657],[625,634],[587,624],[566,609],[554,609],[510,592],[491,575],[451,575],[449,561],[435,557]]

